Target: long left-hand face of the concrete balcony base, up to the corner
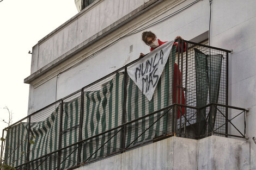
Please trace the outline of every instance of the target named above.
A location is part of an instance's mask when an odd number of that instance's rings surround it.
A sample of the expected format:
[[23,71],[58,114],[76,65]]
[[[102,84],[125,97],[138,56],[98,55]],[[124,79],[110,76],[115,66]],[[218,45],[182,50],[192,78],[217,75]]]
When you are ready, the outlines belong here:
[[78,168],[81,169],[197,169],[197,140],[170,137],[123,154]]

